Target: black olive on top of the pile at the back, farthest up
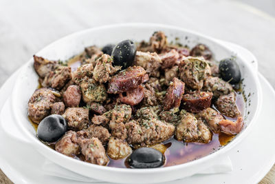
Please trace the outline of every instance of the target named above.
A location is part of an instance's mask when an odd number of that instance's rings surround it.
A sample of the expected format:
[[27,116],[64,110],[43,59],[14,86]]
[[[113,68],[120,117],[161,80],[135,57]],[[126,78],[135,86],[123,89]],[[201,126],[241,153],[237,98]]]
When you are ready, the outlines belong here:
[[113,65],[121,65],[122,69],[128,68],[133,64],[137,47],[133,41],[127,39],[115,45],[111,55],[113,56]]

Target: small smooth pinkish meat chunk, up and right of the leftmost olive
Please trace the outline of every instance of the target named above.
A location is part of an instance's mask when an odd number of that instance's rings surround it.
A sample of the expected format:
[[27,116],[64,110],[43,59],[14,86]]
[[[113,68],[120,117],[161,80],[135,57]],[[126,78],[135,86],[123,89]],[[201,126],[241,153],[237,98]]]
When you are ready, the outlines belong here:
[[63,94],[63,101],[67,107],[76,108],[81,100],[81,91],[78,85],[70,85]]

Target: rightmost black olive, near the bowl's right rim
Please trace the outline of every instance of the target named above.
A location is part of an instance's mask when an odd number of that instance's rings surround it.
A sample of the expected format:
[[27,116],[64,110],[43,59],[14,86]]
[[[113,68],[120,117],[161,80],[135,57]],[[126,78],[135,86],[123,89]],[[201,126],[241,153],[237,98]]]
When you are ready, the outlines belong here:
[[221,79],[229,81],[231,84],[241,81],[239,65],[232,58],[221,60],[219,63],[219,74],[221,74]]

